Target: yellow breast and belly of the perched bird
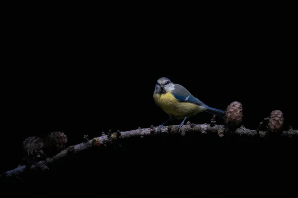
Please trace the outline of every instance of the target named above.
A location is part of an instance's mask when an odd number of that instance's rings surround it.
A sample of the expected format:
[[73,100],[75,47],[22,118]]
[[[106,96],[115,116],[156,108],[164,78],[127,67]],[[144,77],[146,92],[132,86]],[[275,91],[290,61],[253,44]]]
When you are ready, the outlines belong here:
[[205,110],[197,104],[181,102],[175,99],[170,92],[166,94],[153,94],[153,99],[162,110],[168,114],[177,116],[178,119],[183,119],[186,116],[191,117]]

